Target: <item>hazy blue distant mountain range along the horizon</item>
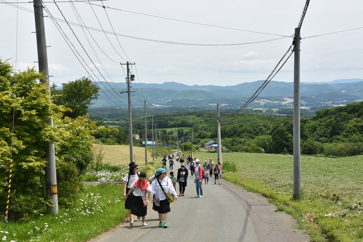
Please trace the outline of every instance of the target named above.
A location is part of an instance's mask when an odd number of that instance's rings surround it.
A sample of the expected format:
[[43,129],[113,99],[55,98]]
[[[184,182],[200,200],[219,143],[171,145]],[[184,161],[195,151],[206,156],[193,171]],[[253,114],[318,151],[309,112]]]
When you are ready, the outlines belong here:
[[[133,83],[132,103],[142,106],[145,98],[155,108],[162,107],[213,107],[216,103],[226,108],[243,105],[264,81],[241,83],[234,86],[185,85],[176,82],[162,84]],[[97,82],[103,90],[91,107],[127,107],[126,83]],[[112,89],[111,89],[112,87]],[[115,103],[109,100],[106,93]],[[121,97],[120,97],[121,96]],[[363,99],[363,79],[341,79],[324,83],[300,84],[301,106],[305,108],[344,105]],[[116,98],[118,100],[116,100]],[[291,108],[293,83],[271,81],[248,108]],[[213,107],[214,108],[214,107]]]

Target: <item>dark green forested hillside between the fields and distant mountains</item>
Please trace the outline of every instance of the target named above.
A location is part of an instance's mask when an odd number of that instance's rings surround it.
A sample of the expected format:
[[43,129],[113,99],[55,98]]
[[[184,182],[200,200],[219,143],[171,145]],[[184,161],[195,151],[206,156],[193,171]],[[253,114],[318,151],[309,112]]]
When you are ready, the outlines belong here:
[[[101,112],[101,111],[100,111]],[[128,134],[126,113],[113,115],[113,125]],[[119,111],[118,111],[119,113]],[[301,118],[301,153],[324,154],[327,156],[349,156],[363,154],[363,102],[317,111],[313,117]],[[99,113],[98,115],[102,115]],[[107,115],[103,115],[103,120]],[[91,118],[93,115],[91,114]],[[133,119],[133,133],[143,140],[144,117],[141,113]],[[154,124],[165,136],[167,144],[175,144],[176,137],[191,140],[194,130],[194,144],[204,146],[216,140],[216,113],[198,112],[158,112]],[[148,139],[151,139],[151,120],[148,119]],[[171,129],[173,128],[173,129]],[[222,145],[231,151],[292,153],[292,116],[245,112],[232,115],[221,114]],[[170,138],[171,136],[171,138]],[[127,139],[124,139],[127,142]]]

